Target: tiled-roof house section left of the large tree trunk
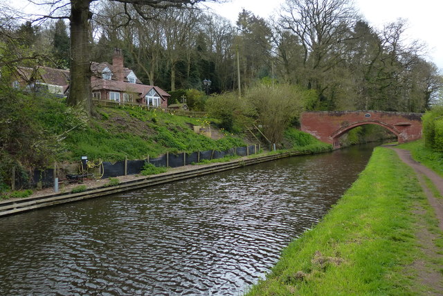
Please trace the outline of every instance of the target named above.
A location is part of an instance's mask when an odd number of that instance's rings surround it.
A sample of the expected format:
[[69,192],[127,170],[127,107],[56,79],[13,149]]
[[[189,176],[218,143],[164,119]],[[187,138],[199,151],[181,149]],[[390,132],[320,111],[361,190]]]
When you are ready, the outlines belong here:
[[17,66],[17,71],[12,75],[12,87],[47,91],[63,98],[69,87],[69,70],[46,66],[37,66],[36,68]]

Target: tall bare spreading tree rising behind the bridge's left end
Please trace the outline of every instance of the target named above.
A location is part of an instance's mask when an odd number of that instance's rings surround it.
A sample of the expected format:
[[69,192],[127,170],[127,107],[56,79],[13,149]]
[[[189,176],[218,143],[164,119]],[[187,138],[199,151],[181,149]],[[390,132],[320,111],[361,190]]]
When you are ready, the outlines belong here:
[[349,38],[355,10],[348,0],[287,0],[282,8],[282,28],[295,34],[302,48],[307,86],[320,91],[318,77],[341,58],[341,43]]

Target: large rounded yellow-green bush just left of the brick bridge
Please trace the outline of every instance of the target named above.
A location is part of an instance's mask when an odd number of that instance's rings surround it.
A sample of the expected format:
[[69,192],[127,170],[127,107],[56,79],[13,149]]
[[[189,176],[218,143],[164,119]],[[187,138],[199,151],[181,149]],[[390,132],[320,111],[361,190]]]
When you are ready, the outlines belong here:
[[264,136],[272,143],[282,141],[284,130],[303,110],[302,91],[288,84],[257,84],[246,90],[245,97],[255,109]]

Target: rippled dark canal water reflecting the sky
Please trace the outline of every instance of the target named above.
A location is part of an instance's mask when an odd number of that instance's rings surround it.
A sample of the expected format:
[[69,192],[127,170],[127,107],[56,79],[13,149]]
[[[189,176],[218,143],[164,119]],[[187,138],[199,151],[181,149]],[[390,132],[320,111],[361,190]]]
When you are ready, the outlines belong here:
[[0,295],[242,295],[356,180],[374,145],[0,219]]

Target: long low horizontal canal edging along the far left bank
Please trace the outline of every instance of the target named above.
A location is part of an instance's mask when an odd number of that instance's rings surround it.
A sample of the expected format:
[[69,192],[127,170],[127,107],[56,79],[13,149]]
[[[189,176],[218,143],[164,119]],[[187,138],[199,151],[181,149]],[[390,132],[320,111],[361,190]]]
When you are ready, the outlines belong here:
[[166,172],[163,174],[147,176],[146,178],[137,179],[133,181],[125,181],[112,187],[98,187],[87,189],[84,192],[78,193],[54,193],[46,196],[27,197],[15,199],[12,201],[0,201],[0,217],[10,214],[18,214],[30,210],[39,209],[42,207],[49,207],[52,205],[60,205],[62,203],[71,203],[73,201],[81,201],[83,199],[94,198],[98,196],[105,196],[109,194],[116,194],[128,190],[139,189],[169,183],[173,181],[184,180],[186,178],[193,178],[197,176],[204,176],[216,172],[223,172],[228,169],[236,169],[245,167],[246,165],[255,165],[257,163],[264,163],[270,160],[278,160],[280,158],[287,158],[296,155],[306,155],[311,153],[302,153],[296,151],[288,151],[280,154],[271,154],[266,156],[258,156],[255,158],[241,158],[231,160],[227,163],[215,163],[205,165],[204,167],[196,167],[186,169],[179,172]]

